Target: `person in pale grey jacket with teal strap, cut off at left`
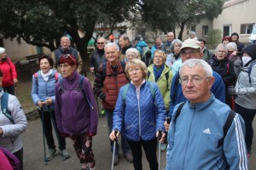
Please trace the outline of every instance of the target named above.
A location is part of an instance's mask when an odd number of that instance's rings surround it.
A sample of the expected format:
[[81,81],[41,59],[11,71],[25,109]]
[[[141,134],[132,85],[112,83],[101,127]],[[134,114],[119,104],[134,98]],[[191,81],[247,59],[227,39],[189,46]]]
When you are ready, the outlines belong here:
[[0,146],[16,156],[20,161],[20,169],[23,169],[23,144],[20,133],[26,130],[26,116],[19,100],[14,95],[3,92],[2,78],[3,73],[0,71]]

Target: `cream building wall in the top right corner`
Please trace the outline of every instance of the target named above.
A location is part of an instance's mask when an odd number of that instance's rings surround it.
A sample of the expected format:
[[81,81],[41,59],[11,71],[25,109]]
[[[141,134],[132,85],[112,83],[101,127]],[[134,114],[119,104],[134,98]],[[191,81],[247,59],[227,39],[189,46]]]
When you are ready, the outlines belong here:
[[[233,1],[238,2],[237,0]],[[230,25],[230,34],[237,32],[241,42],[248,42],[250,34],[240,34],[241,24],[256,23],[255,8],[256,0],[240,1],[240,3],[230,7],[224,6],[222,14],[219,14],[218,18],[213,20],[213,28],[223,31],[223,26]]]

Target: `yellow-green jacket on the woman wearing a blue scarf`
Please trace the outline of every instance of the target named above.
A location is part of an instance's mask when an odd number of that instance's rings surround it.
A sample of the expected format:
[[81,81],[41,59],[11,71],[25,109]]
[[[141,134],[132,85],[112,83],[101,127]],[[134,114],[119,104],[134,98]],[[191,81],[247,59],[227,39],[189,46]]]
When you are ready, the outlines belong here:
[[[154,78],[154,65],[148,66],[148,72],[150,73],[148,77],[148,81],[155,82]],[[169,74],[168,80],[166,80],[166,73]],[[163,96],[165,105],[166,105],[166,111],[169,111],[169,105],[170,105],[170,91],[171,91],[171,85],[172,85],[172,71],[169,69],[168,65],[165,65],[164,70],[161,73],[160,78],[156,82],[158,88],[160,89],[160,93]]]

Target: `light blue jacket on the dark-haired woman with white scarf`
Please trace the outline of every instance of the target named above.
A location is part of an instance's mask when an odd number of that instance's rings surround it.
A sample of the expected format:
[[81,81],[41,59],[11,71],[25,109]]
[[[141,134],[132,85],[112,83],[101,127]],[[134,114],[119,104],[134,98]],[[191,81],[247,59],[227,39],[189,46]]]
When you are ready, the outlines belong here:
[[[38,71],[38,77],[32,76],[32,100],[35,105],[38,104],[40,99],[47,97],[53,99],[53,103],[49,105],[50,110],[55,109],[55,83],[61,79],[61,74],[58,73],[58,80],[55,78],[55,70],[52,71],[47,82],[44,81],[41,71]],[[44,111],[49,110],[48,105],[44,105]]]

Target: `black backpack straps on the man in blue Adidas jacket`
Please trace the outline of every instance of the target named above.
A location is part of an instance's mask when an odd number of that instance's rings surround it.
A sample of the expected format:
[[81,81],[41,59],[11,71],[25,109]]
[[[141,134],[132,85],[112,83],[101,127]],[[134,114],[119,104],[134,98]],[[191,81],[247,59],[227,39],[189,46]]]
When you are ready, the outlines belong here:
[[[177,108],[176,115],[173,120],[173,122],[175,124],[176,124],[177,117],[180,116],[181,110],[183,108],[183,105],[185,105],[185,103],[186,103],[186,101],[183,101],[183,103],[180,104]],[[236,116],[236,112],[230,110],[229,116],[228,116],[228,118],[224,124],[224,127],[223,127],[223,132],[224,132],[223,138],[218,140],[218,147],[224,144],[224,138],[225,138],[226,134],[228,133],[235,116]]]

